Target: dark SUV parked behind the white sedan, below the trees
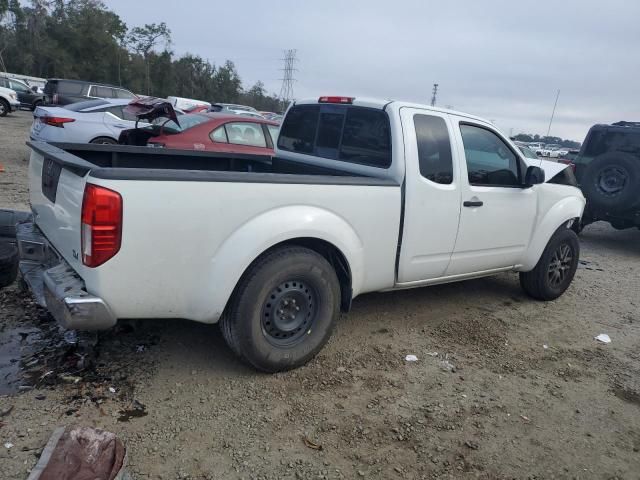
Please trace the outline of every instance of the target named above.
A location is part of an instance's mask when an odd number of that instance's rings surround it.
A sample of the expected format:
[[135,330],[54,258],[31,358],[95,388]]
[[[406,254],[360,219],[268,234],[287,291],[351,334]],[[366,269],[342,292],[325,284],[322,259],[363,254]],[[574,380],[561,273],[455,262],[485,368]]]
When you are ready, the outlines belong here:
[[68,105],[92,98],[137,98],[136,95],[121,87],[82,80],[64,80],[51,78],[44,86],[45,102],[48,105]]

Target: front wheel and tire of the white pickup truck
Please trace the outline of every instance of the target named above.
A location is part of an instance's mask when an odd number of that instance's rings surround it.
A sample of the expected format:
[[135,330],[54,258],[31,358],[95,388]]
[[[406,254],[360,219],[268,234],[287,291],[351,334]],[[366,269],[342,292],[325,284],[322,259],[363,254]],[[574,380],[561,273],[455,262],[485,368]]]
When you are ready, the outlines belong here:
[[537,300],[555,300],[569,288],[579,258],[578,236],[563,226],[553,234],[535,268],[520,273],[520,286]]

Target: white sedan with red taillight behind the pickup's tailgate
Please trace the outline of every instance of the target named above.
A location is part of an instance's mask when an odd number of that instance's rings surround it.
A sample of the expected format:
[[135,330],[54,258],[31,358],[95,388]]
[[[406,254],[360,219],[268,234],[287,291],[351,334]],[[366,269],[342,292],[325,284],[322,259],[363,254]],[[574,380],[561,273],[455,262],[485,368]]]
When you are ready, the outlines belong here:
[[[136,117],[123,111],[130,99],[96,99],[64,107],[38,107],[31,139],[44,142],[117,144],[122,130],[134,128]],[[140,122],[140,126],[146,125]]]

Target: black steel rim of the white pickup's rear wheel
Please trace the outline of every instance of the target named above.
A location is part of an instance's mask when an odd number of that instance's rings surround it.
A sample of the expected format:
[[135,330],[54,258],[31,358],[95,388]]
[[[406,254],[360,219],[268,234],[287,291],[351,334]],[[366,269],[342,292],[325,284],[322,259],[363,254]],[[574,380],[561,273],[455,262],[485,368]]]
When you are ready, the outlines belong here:
[[262,307],[262,332],[272,345],[285,347],[302,342],[317,317],[318,295],[300,280],[287,280],[274,288]]

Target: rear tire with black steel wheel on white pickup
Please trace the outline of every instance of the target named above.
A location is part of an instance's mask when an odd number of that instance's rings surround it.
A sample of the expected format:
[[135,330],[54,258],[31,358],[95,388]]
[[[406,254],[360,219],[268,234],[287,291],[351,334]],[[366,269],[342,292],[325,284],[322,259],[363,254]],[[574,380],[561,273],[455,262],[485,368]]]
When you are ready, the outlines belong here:
[[243,275],[220,320],[227,344],[264,372],[304,365],[329,340],[339,316],[340,283],[324,257],[275,248]]

